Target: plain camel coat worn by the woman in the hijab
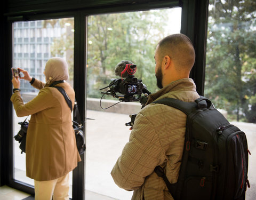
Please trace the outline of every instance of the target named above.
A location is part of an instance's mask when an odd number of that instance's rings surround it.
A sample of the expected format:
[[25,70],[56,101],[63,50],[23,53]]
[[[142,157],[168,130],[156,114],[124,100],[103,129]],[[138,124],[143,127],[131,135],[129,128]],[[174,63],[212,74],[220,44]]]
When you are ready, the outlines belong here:
[[[63,95],[54,87],[43,87],[35,79],[38,95],[24,104],[20,92],[11,97],[18,117],[31,115],[26,140],[27,177],[37,181],[53,180],[72,171],[81,161],[71,111]],[[68,83],[59,83],[74,106],[75,92]]]

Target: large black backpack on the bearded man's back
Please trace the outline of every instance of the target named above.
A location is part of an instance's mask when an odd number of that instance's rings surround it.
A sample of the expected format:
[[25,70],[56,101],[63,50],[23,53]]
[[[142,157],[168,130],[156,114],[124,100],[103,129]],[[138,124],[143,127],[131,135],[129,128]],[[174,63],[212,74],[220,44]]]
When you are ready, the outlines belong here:
[[245,199],[246,187],[250,187],[245,133],[231,125],[204,97],[195,102],[166,98],[153,103],[172,106],[187,114],[178,182],[171,184],[164,169],[155,168],[173,198]]

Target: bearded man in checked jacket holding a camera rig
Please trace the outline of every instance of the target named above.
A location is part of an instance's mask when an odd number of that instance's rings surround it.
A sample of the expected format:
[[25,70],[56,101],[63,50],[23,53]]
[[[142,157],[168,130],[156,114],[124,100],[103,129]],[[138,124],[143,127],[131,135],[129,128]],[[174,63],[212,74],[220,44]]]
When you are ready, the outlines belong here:
[[146,107],[138,113],[129,142],[111,172],[119,187],[134,190],[132,199],[173,199],[163,179],[154,172],[158,165],[171,183],[179,176],[187,116],[173,107],[151,102],[163,98],[193,102],[199,98],[189,78],[195,50],[187,36],[175,34],[162,39],[155,61],[161,90],[150,94]]

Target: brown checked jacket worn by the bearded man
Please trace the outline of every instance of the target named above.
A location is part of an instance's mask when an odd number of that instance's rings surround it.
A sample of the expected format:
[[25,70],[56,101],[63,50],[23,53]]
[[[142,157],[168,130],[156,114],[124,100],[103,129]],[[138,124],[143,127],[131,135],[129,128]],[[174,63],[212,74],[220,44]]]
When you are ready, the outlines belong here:
[[187,116],[173,107],[151,103],[163,98],[193,102],[199,95],[190,78],[172,82],[149,95],[147,106],[137,114],[129,142],[111,171],[119,187],[134,190],[132,200],[173,199],[154,169],[161,165],[169,181],[177,182]]

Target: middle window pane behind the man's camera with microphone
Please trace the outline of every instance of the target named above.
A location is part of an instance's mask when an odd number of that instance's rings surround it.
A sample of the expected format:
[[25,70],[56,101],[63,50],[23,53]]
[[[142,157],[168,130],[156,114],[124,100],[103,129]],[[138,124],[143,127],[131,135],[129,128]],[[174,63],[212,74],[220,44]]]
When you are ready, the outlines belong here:
[[[125,123],[141,109],[139,102],[120,103],[102,110],[99,89],[108,86],[122,60],[137,65],[135,77],[151,92],[157,90],[155,47],[167,35],[180,33],[181,8],[92,15],[88,19],[86,184],[88,199],[131,199],[132,191],[115,185],[110,172],[121,155],[130,131]],[[106,90],[105,90],[106,91]],[[119,102],[103,97],[102,107]],[[103,196],[101,196],[103,195]]]

